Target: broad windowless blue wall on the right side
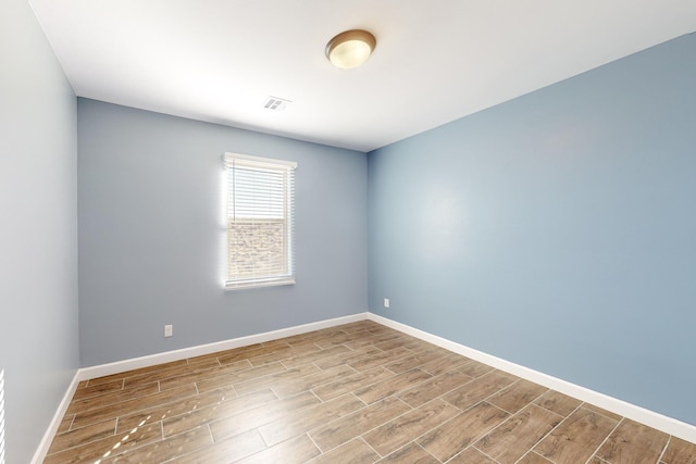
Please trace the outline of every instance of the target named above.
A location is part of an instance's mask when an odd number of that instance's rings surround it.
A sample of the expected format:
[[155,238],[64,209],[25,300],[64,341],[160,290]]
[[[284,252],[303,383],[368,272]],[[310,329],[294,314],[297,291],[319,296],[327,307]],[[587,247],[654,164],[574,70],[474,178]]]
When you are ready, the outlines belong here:
[[371,152],[369,192],[372,312],[696,424],[696,35]]

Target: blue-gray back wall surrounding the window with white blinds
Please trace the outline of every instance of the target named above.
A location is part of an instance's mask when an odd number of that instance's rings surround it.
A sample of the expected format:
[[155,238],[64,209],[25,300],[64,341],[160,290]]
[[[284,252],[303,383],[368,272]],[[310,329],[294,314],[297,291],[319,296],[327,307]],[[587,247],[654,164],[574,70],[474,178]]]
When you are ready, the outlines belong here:
[[[364,153],[82,98],[77,115],[84,366],[366,311]],[[297,161],[296,285],[224,291],[225,151]]]

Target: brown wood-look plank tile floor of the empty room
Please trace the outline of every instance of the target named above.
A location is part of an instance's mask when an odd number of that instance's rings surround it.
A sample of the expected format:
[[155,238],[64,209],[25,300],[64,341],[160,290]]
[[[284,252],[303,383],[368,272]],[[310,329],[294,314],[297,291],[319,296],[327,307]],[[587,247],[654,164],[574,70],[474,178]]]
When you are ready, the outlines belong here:
[[47,464],[688,464],[696,444],[363,321],[79,384]]

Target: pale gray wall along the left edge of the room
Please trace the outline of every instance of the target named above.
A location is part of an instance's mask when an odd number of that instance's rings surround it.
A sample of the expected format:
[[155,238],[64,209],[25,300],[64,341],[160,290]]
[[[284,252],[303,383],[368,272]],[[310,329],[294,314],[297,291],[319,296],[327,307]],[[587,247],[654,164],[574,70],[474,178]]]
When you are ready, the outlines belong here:
[[0,369],[28,463],[78,367],[75,95],[25,0],[0,13]]

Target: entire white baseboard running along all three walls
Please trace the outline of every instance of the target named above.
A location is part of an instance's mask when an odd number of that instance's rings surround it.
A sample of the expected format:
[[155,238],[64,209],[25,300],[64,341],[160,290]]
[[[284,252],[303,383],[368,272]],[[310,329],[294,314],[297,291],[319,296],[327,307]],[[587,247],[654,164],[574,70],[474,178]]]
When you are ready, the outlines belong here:
[[531,369],[529,367],[521,366],[510,361],[502,360],[500,358],[486,354],[482,351],[474,350],[473,348],[465,347],[463,344],[447,340],[446,338],[438,337],[436,335],[428,334],[426,331],[413,328],[406,324],[398,323],[396,321],[388,319],[374,313],[365,312],[358,313],[350,316],[337,317],[333,319],[320,321],[316,323],[299,325],[295,327],[283,328],[279,330],[266,331],[263,334],[251,335],[248,337],[239,337],[231,340],[219,341],[214,343],[200,344],[197,347],[184,348],[181,350],[166,351],[163,353],[151,354],[148,356],[135,358],[132,360],[119,361],[115,363],[101,364],[97,366],[84,367],[77,369],[75,377],[71,383],[65,396],[61,401],[58,411],[53,416],[53,419],[49,424],[39,448],[34,453],[32,464],[40,464],[44,462],[51,441],[58,427],[60,426],[63,415],[70,405],[70,402],[75,394],[77,385],[82,380],[87,380],[95,377],[102,377],[104,375],[117,374],[124,371],[130,371],[140,367],[148,367],[170,361],[183,360],[186,358],[199,356],[202,354],[210,354],[216,351],[231,350],[234,348],[246,347],[253,343],[261,343],[264,341],[276,340],[278,338],[291,337],[294,335],[306,334],[308,331],[320,330],[323,328],[334,327],[343,324],[350,324],[358,321],[373,321],[382,324],[386,327],[394,328],[403,334],[420,338],[421,340],[445,348],[446,350],[455,353],[471,358],[472,360],[481,363],[488,364],[500,371],[505,371],[518,377],[524,378],[530,381],[534,381],[544,387],[551,388],[568,394],[569,397],[576,398],[580,401],[584,401],[596,406],[602,407],[612,413],[627,417],[641,424],[645,424],[649,427],[661,430],[666,434],[681,438],[683,440],[696,443],[696,426],[686,424],[672,417],[658,414],[654,411],[646,410],[635,404],[627,403],[625,401],[609,397],[604,393],[599,393],[594,390],[581,387],[575,384],[562,380],[560,378],[540,373],[538,371]]

